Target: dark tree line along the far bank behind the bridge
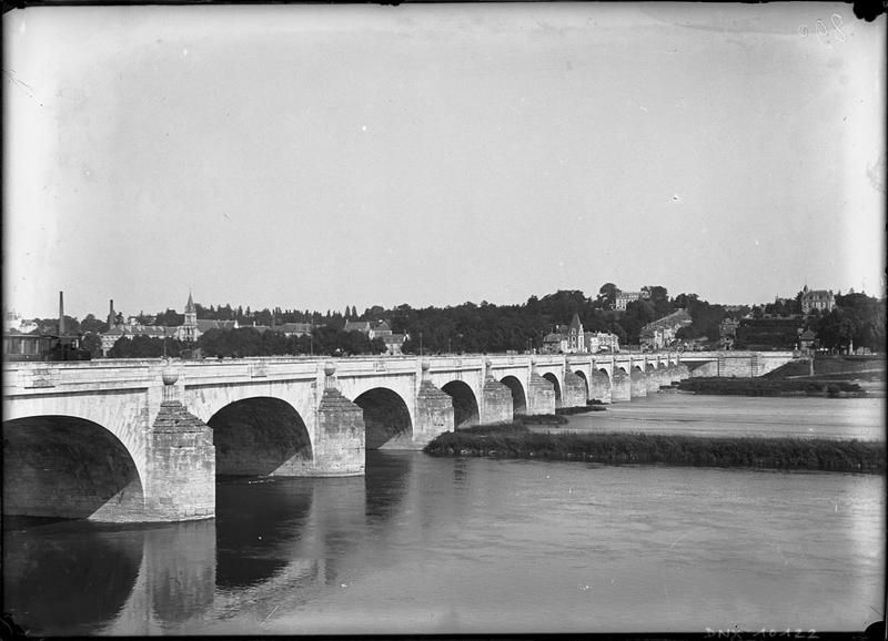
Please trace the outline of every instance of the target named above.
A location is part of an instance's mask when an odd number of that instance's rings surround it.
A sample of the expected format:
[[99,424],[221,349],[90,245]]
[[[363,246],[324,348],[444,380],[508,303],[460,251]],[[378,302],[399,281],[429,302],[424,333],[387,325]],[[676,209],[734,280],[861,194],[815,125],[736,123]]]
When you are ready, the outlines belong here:
[[[652,285],[643,288],[644,298],[629,302],[625,311],[615,309],[619,288],[606,283],[595,296],[586,296],[578,289],[559,289],[543,297],[531,296],[523,304],[495,305],[482,301],[456,306],[414,308],[398,305],[393,308],[373,306],[357,314],[354,306],[343,312],[326,314],[319,312],[282,309],[281,307],[253,311],[249,306],[195,305],[198,318],[238,320],[240,329],[212,329],[202,334],[196,344],[183,344],[167,338],[168,355],[189,355],[198,348],[210,357],[272,356],[272,355],[345,355],[380,354],[385,352],[382,339],[371,340],[360,332],[345,332],[346,320],[385,319],[396,334],[406,334],[403,344],[405,354],[460,354],[504,353],[538,350],[547,334],[558,325],[571,323],[574,314],[579,317],[585,332],[613,333],[620,345],[637,345],[642,328],[678,309],[686,309],[692,324],[678,332],[683,340],[696,339],[716,344],[719,324],[724,318],[766,315],[800,315],[801,292],[789,301],[755,307],[727,307],[703,301],[696,294],[682,293],[669,297],[666,287]],[[139,315],[155,326],[182,325],[184,316],[167,309],[153,317]],[[885,301],[854,292],[836,296],[836,308],[827,314],[815,313],[804,319],[806,328],[814,329],[826,348],[856,347],[872,350],[885,349]],[[37,319],[39,332],[57,333],[58,319]],[[279,326],[283,323],[312,323],[311,335],[286,337],[273,329],[264,332],[250,325]],[[249,325],[248,325],[249,324]],[[65,316],[65,333],[84,335],[87,347],[94,356],[101,355],[98,334],[108,330],[108,324],[89,314],[82,322]],[[161,338],[135,337],[121,339],[109,353],[113,357],[155,357],[164,352]]]

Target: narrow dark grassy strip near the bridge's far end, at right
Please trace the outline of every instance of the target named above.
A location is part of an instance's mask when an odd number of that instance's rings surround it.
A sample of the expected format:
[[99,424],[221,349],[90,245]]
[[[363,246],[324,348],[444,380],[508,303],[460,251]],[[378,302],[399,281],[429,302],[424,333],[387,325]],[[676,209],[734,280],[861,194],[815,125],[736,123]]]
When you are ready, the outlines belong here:
[[866,391],[847,380],[815,380],[811,378],[687,378],[678,384],[682,391],[733,396],[864,396]]

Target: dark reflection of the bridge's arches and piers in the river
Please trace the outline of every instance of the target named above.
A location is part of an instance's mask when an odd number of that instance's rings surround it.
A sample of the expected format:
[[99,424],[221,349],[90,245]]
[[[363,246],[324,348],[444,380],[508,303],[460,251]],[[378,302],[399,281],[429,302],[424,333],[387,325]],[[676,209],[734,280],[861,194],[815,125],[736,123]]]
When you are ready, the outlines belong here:
[[341,568],[384,563],[392,529],[421,515],[410,455],[380,456],[366,479],[220,484],[216,519],[13,532],[8,606],[49,634],[194,633],[244,612],[256,625],[292,613],[351,581]]

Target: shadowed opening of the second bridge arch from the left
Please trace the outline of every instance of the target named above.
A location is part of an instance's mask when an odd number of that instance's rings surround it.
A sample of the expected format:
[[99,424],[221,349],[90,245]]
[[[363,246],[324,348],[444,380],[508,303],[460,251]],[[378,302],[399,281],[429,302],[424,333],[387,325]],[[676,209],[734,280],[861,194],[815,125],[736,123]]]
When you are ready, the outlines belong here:
[[206,421],[216,476],[302,476],[313,464],[311,435],[296,409],[271,396],[235,400]]

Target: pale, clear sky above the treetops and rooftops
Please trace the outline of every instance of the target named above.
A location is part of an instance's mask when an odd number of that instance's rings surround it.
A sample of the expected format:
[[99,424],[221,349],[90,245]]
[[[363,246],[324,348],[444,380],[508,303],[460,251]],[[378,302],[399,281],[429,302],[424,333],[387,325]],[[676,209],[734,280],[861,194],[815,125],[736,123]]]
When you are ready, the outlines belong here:
[[789,2],[3,16],[3,305],[885,287],[886,17]]

